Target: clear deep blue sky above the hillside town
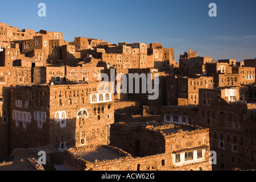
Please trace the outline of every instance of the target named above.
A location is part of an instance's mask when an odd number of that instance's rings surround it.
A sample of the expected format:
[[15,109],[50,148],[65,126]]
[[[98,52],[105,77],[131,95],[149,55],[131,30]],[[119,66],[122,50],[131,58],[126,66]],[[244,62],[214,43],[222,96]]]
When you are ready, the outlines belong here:
[[[46,3],[46,17],[38,4]],[[216,3],[217,17],[208,15]],[[189,48],[218,59],[256,57],[256,1],[220,0],[98,0],[1,1],[0,22],[32,30],[63,32],[105,42],[163,43],[175,48],[175,59]]]

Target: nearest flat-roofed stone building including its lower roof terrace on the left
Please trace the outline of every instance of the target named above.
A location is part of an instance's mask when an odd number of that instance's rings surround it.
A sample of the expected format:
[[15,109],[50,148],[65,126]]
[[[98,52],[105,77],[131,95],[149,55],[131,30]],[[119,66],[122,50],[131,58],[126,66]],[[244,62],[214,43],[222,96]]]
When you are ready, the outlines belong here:
[[63,164],[77,171],[210,171],[209,131],[194,126],[114,123],[113,146],[71,148]]

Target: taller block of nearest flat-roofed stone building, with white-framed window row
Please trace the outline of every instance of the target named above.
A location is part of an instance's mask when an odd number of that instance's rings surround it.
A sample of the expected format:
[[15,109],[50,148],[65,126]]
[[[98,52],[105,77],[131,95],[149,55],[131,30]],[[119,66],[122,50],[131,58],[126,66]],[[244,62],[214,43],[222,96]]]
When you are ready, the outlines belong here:
[[[114,123],[110,128],[110,144],[133,156],[129,160],[131,171],[208,171],[212,169],[208,134],[208,129],[195,126]],[[110,165],[126,171],[125,164],[126,161],[121,159]],[[99,166],[102,165],[100,162]]]

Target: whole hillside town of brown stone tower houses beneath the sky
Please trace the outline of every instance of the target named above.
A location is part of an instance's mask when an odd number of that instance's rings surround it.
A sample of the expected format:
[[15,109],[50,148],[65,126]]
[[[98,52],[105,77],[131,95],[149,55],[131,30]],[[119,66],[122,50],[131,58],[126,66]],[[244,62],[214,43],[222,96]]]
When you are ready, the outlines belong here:
[[255,169],[256,58],[174,55],[0,23],[0,170]]

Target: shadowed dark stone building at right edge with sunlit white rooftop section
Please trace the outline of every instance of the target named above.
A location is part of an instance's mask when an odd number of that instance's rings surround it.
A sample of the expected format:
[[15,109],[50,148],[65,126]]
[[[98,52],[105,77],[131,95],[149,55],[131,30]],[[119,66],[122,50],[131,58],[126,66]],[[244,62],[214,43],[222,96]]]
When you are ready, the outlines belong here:
[[240,100],[240,88],[200,89],[197,125],[210,129],[214,170],[255,168],[255,100]]

